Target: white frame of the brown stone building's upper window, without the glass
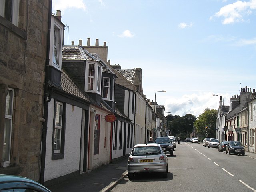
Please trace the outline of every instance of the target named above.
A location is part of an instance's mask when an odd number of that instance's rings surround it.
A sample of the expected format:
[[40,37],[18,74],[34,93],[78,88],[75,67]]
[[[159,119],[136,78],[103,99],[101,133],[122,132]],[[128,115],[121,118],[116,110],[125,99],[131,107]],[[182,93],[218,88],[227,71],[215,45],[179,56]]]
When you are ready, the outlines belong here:
[[[0,15],[4,17],[5,14],[5,1],[0,0]],[[20,8],[20,0],[12,0],[12,24],[18,26],[19,22],[19,8]]]

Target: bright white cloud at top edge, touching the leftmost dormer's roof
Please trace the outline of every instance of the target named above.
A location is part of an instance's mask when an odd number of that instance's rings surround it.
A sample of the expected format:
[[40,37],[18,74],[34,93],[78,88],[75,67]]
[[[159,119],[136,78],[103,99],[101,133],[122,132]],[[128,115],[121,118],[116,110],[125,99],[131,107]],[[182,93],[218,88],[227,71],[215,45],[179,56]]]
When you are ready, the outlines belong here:
[[68,8],[76,8],[86,10],[86,5],[83,0],[53,0],[52,1],[52,12],[61,10],[62,12]]

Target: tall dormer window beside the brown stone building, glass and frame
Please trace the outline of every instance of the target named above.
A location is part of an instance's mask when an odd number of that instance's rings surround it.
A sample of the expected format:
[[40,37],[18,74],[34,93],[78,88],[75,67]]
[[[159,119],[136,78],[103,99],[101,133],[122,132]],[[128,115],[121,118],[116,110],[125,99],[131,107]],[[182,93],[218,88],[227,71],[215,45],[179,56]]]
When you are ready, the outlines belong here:
[[61,52],[61,28],[54,25],[54,42],[53,42],[53,54],[52,64],[56,68],[60,68],[60,52]]

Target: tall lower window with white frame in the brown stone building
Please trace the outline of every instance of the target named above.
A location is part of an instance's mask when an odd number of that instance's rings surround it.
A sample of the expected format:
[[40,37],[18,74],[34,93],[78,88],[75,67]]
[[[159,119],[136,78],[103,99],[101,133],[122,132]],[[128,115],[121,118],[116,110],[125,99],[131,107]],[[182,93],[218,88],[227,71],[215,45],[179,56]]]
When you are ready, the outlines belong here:
[[11,88],[8,88],[8,93],[6,96],[5,121],[4,121],[4,146],[3,146],[4,167],[9,166],[10,164],[13,96],[14,96],[14,90]]

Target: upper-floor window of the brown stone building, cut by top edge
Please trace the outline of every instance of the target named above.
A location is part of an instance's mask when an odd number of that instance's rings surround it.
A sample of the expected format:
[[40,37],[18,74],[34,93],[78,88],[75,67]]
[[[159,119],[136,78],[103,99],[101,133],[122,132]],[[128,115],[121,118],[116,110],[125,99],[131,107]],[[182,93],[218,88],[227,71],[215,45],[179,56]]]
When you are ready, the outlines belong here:
[[0,15],[18,26],[19,7],[19,0],[0,0]]

